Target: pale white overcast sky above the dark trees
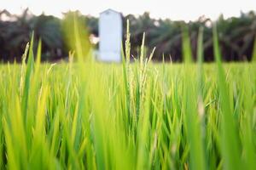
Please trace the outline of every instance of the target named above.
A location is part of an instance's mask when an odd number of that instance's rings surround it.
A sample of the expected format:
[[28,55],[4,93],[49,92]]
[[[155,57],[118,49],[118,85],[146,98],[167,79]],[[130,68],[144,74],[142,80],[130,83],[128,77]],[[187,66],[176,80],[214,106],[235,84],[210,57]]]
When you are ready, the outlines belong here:
[[[1,2],[2,1],[2,2]],[[256,10],[256,0],[0,0],[0,10],[20,14],[29,8],[33,14],[53,14],[62,17],[62,12],[79,10],[82,14],[98,16],[103,10],[113,8],[123,14],[143,14],[154,18],[171,20],[196,20],[201,15],[216,20],[239,16],[242,12]]]

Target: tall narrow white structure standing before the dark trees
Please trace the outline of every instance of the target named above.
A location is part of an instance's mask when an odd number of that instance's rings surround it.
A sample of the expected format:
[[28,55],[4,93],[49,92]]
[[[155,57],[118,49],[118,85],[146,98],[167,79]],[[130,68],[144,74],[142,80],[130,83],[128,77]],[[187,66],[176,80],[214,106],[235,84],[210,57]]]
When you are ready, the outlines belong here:
[[121,61],[122,31],[123,31],[122,17],[119,12],[116,12],[112,9],[107,9],[100,14],[99,60],[107,61],[107,62]]

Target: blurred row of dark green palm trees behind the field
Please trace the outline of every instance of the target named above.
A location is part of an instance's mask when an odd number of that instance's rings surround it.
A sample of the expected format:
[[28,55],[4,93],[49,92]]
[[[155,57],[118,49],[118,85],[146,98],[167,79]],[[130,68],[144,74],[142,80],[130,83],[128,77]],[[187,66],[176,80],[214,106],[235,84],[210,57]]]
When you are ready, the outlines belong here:
[[[69,12],[71,13],[71,12]],[[68,15],[64,14],[64,19]],[[82,15],[84,26],[87,27],[90,38],[98,37],[98,18]],[[198,20],[184,22],[183,20],[154,19],[149,13],[139,16],[123,15],[123,32],[125,42],[126,20],[130,21],[131,55],[137,58],[145,32],[145,46],[150,51],[156,47],[154,60],[182,61],[182,26],[189,28],[192,54],[196,58],[196,42],[199,29],[204,30],[204,59],[213,60],[212,51],[212,21],[204,16]],[[20,61],[21,55],[29,42],[32,31],[35,40],[41,38],[42,59],[53,61],[67,58],[68,48],[63,35],[63,20],[51,15],[34,15],[28,9],[23,14],[10,14],[7,10],[0,11],[0,61]],[[256,14],[251,11],[241,13],[239,17],[224,19],[223,15],[216,20],[218,38],[225,61],[251,60],[256,51]],[[86,37],[84,37],[86,38]],[[37,46],[35,42],[35,46]],[[98,42],[93,41],[95,48]],[[255,44],[254,44],[255,43]],[[255,47],[255,48],[253,48]],[[254,50],[253,50],[254,49]],[[254,52],[253,52],[254,51]]]

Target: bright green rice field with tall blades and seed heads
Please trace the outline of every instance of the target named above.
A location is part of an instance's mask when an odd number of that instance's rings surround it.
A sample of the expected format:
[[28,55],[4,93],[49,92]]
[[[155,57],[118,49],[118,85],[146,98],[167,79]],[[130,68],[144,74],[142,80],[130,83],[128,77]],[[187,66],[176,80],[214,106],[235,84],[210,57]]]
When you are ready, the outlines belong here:
[[75,31],[68,63],[0,65],[1,169],[255,169],[256,65],[222,63],[216,30],[193,63],[187,33],[183,64],[131,63],[129,31],[122,64],[84,61]]

